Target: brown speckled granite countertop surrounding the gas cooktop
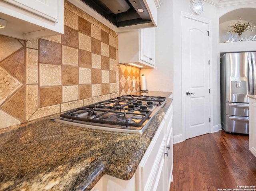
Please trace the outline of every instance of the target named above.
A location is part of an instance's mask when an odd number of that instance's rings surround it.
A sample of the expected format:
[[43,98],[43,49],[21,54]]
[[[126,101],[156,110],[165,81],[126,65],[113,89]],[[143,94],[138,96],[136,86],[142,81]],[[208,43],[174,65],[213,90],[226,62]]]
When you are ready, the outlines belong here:
[[49,117],[0,130],[0,190],[89,191],[105,174],[132,178],[171,102],[167,98],[142,135],[70,126]]

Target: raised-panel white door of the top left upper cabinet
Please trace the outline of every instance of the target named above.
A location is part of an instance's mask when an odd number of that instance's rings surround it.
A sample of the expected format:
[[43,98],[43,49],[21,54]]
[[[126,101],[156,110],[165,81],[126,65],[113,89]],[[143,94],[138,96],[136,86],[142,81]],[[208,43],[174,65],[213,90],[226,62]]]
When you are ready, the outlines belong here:
[[48,20],[58,22],[59,0],[4,0],[24,10],[42,16]]

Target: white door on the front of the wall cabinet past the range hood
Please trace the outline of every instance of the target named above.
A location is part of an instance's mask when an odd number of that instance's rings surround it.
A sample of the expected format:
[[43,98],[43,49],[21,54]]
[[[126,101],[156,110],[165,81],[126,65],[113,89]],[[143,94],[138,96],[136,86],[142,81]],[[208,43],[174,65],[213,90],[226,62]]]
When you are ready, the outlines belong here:
[[140,29],[140,59],[150,63],[151,28]]

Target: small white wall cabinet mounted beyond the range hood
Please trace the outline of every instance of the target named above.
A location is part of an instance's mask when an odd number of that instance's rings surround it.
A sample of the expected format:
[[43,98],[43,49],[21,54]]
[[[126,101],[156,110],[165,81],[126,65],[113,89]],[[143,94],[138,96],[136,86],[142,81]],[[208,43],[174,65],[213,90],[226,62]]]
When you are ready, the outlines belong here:
[[119,63],[155,67],[155,28],[121,32],[118,42]]

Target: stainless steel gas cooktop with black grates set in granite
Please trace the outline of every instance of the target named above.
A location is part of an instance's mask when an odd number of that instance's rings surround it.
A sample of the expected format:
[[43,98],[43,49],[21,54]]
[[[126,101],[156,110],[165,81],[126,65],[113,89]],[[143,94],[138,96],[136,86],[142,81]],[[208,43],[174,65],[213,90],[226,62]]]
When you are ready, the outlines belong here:
[[71,110],[55,121],[98,130],[142,134],[165,102],[166,98],[160,96],[118,96]]

